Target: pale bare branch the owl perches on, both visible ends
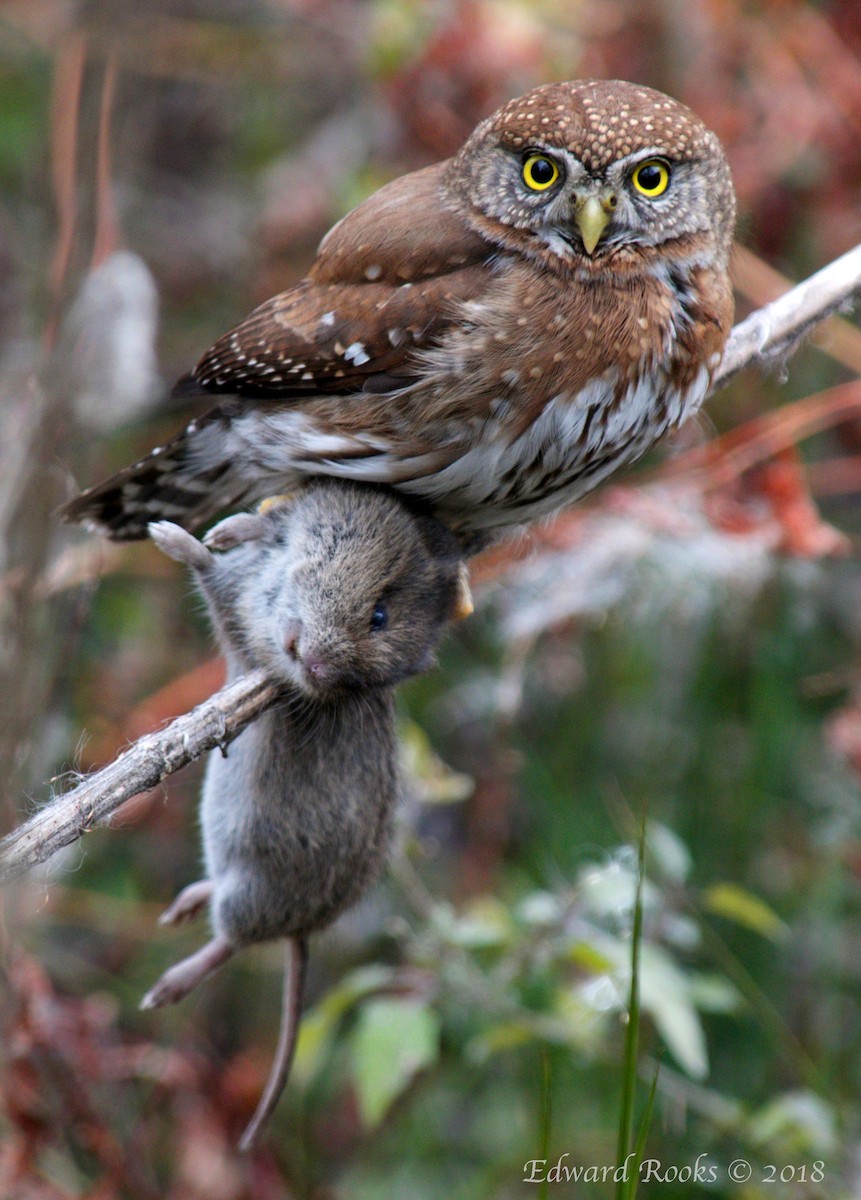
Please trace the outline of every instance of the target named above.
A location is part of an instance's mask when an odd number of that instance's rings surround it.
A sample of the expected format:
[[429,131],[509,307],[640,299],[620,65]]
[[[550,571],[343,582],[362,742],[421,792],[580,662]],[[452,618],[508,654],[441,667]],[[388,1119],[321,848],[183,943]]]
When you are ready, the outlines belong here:
[[[814,325],[861,292],[861,246],[850,250],[757,310],[733,330],[716,386],[748,366],[770,366],[793,353]],[[227,746],[278,698],[279,690],[261,671],[216,692],[163,730],[134,742],[108,767],[30,817],[0,841],[0,883],[47,862],[90,829],[107,824],[112,812],[140,792],[215,746]]]

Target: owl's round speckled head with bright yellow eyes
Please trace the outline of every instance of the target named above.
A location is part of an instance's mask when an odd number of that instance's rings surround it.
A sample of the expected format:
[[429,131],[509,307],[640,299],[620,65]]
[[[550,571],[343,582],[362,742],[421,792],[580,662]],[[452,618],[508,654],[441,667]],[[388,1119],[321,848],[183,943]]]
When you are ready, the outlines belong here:
[[717,137],[660,91],[546,84],[477,126],[447,194],[500,248],[560,269],[725,264],[735,193]]

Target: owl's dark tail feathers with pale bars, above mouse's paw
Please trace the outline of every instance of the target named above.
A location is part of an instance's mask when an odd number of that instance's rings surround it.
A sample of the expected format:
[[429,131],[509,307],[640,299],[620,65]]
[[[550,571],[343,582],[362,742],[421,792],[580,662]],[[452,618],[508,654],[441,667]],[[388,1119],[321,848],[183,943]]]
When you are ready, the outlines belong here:
[[240,504],[247,482],[228,457],[201,466],[192,444],[197,430],[192,422],[167,445],[82,492],[61,509],[62,520],[114,541],[134,541],[146,538],[150,521],[198,529],[222,509]]

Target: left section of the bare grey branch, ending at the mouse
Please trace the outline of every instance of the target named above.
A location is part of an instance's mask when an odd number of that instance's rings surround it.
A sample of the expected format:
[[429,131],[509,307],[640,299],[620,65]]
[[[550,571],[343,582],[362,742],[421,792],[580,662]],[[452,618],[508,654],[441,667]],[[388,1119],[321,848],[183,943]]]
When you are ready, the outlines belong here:
[[106,824],[125,800],[215,746],[225,746],[271,707],[279,688],[253,671],[163,730],[133,742],[119,758],[60,796],[0,841],[0,883],[44,863],[62,846]]

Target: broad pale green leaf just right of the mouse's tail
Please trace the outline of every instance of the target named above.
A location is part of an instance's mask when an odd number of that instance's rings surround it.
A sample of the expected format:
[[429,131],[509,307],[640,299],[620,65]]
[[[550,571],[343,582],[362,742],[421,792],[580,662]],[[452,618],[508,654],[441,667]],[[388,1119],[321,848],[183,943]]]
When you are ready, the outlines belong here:
[[353,1036],[359,1111],[368,1128],[439,1055],[439,1018],[425,1001],[381,998],[362,1006]]

